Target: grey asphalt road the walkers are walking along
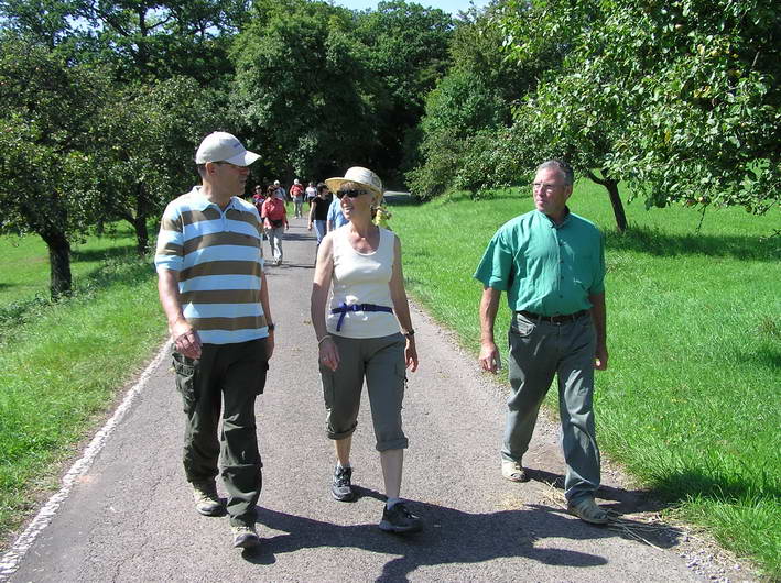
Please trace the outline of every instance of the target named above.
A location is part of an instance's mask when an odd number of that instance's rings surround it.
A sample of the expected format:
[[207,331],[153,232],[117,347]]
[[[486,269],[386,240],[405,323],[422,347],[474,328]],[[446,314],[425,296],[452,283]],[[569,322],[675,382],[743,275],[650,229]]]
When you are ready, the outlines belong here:
[[[699,580],[679,557],[674,531],[644,532],[653,548],[562,512],[561,491],[549,485],[562,469],[550,424],[528,455],[534,480],[503,481],[502,387],[416,309],[421,369],[406,393],[411,446],[402,495],[426,528],[406,539],[377,528],[382,481],[366,400],[354,442],[361,496],[333,501],[308,317],[315,244],[303,220],[293,220],[284,251],[285,263],[269,268],[278,346],[258,402],[260,550],[232,549],[228,519],[192,508],[166,358],[11,581]],[[601,497],[618,512],[638,504],[609,480]]]

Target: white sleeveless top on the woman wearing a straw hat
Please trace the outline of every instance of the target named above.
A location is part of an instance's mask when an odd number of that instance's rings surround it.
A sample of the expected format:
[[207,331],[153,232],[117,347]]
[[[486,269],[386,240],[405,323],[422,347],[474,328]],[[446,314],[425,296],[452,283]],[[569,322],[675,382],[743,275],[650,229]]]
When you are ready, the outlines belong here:
[[380,228],[380,244],[373,253],[358,253],[347,239],[349,224],[334,231],[334,275],[330,309],[326,315],[328,333],[346,338],[382,338],[400,331],[393,314],[384,311],[348,311],[337,332],[340,314],[332,314],[343,302],[373,304],[393,307],[390,279],[393,272],[393,242],[391,231]]

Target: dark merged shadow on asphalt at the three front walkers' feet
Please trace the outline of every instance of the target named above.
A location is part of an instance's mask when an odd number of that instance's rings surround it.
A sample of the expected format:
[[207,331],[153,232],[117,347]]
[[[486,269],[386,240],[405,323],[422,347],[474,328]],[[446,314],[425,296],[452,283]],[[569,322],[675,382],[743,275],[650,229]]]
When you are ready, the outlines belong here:
[[[356,490],[361,497],[384,501],[377,492]],[[275,562],[276,554],[306,548],[356,548],[393,556],[384,564],[378,581],[406,581],[406,575],[420,566],[479,563],[503,557],[521,557],[549,565],[597,566],[606,564],[607,560],[597,554],[556,548],[555,541],[542,541],[621,536],[612,529],[586,525],[565,516],[561,509],[541,505],[487,514],[469,514],[426,503],[411,502],[409,505],[424,519],[425,529],[406,537],[382,532],[376,524],[339,526],[259,508],[258,520],[261,525],[286,534],[264,538],[257,551],[248,551],[243,558],[256,564],[271,564]],[[345,505],[345,512],[349,508]],[[631,521],[621,522],[626,525]],[[661,541],[659,546],[670,547],[673,543],[674,540],[668,536],[666,541]]]

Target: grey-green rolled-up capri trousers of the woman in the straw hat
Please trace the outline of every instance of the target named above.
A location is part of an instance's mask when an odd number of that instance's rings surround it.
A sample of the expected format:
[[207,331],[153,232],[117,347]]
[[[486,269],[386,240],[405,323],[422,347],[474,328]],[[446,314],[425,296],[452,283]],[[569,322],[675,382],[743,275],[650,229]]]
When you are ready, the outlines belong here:
[[356,430],[366,377],[377,451],[405,449],[409,441],[401,428],[406,383],[404,337],[332,338],[339,351],[339,366],[332,371],[319,365],[328,439],[345,439]]

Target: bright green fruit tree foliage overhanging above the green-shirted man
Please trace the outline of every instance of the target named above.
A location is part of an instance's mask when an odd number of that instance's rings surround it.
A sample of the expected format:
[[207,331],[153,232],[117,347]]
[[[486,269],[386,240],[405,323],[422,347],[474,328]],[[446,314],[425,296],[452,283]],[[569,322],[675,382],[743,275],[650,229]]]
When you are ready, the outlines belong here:
[[628,179],[648,205],[779,200],[779,34],[772,2],[534,2],[502,21],[519,63],[562,66],[517,119],[534,150]]

